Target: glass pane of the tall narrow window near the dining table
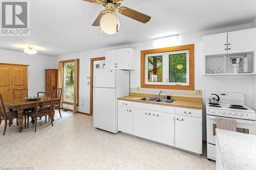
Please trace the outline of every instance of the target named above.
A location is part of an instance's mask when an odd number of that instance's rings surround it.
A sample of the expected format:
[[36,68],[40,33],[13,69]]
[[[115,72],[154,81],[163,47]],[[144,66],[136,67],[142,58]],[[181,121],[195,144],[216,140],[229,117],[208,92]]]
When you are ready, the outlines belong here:
[[64,83],[63,94],[64,101],[73,102],[74,100],[74,63],[64,63]]

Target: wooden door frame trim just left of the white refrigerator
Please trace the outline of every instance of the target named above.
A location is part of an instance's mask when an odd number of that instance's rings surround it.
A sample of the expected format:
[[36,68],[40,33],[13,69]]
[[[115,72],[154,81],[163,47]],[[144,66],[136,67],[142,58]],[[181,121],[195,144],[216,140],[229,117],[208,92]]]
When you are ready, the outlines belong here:
[[91,58],[90,63],[90,115],[93,115],[93,62],[105,60],[105,57]]

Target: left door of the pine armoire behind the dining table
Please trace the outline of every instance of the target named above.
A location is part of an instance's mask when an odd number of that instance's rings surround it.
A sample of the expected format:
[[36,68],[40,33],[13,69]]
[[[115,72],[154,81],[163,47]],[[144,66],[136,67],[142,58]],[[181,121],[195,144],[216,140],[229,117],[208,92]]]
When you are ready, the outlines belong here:
[[4,101],[12,99],[11,71],[11,66],[0,65],[0,93]]

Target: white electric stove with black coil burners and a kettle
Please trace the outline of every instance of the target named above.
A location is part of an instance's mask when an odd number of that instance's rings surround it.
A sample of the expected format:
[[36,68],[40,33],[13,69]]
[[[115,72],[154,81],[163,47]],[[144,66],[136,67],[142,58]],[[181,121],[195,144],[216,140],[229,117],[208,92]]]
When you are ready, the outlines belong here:
[[[209,103],[208,98],[218,96],[219,103]],[[256,135],[256,113],[245,105],[245,94],[237,92],[205,91],[207,122],[207,158],[216,160],[216,117],[236,120],[237,132]]]

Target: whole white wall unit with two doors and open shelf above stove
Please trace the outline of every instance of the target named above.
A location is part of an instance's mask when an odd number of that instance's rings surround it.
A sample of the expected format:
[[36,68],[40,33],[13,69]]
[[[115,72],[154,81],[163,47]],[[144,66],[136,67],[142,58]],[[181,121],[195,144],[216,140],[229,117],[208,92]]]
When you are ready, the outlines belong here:
[[256,28],[202,39],[203,75],[256,75]]

